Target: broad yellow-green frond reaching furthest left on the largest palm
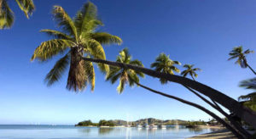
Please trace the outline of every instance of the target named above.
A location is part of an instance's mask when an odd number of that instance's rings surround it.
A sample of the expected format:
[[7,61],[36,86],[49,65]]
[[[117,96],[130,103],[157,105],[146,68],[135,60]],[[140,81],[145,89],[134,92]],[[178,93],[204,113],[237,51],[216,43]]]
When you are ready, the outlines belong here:
[[71,47],[73,42],[64,39],[53,39],[42,42],[34,51],[31,61],[38,58],[40,61],[45,61],[52,58],[58,53],[63,53],[67,47]]

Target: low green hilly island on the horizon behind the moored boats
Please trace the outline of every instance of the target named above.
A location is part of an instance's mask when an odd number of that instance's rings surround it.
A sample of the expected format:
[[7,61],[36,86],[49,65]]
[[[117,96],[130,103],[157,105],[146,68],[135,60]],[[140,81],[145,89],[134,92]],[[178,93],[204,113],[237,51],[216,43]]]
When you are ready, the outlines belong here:
[[189,121],[189,120],[158,120],[154,118],[141,119],[136,121],[125,121],[125,120],[100,120],[99,123],[93,123],[91,120],[84,120],[79,122],[75,126],[125,126],[130,125],[135,127],[137,125],[186,125],[188,127],[193,127],[195,125],[212,125],[216,123],[215,120],[205,122],[203,120],[199,121]]

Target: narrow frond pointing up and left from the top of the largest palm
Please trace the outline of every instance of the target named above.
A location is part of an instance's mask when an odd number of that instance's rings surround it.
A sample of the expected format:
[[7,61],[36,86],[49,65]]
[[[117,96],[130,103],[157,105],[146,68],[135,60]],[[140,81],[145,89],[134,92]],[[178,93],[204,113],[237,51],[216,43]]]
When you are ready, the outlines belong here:
[[64,8],[61,6],[54,6],[52,13],[58,26],[61,27],[64,32],[67,32],[68,35],[74,36],[74,38],[78,40],[77,28],[73,23],[73,19],[69,17]]

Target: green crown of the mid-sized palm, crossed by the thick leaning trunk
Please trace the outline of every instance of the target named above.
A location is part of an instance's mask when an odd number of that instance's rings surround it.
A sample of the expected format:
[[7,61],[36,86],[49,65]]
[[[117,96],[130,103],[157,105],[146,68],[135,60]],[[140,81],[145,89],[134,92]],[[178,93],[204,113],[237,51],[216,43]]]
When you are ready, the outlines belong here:
[[[131,60],[131,55],[129,54],[127,48],[120,51],[116,61],[124,64],[143,66],[141,61],[137,59]],[[124,91],[125,83],[129,83],[130,86],[134,86],[136,82],[138,83],[140,81],[138,76],[144,77],[142,72],[135,71],[133,69],[121,69],[119,67],[111,66],[108,75],[106,76],[106,80],[114,83],[119,79],[119,86],[117,87],[117,91],[121,93]]]

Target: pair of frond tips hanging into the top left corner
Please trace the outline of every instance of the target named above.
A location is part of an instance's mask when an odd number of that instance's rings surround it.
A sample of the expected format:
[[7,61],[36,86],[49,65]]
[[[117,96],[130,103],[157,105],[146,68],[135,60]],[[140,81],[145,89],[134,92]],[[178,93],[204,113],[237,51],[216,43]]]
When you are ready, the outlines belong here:
[[[35,10],[35,5],[32,0],[15,0],[20,10],[24,12],[28,19]],[[8,29],[14,23],[14,12],[9,8],[8,0],[0,0],[0,29]]]

